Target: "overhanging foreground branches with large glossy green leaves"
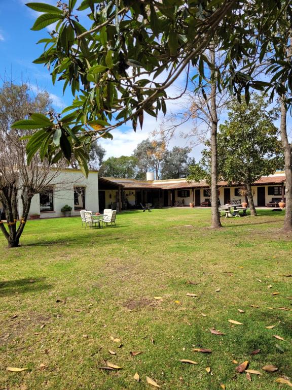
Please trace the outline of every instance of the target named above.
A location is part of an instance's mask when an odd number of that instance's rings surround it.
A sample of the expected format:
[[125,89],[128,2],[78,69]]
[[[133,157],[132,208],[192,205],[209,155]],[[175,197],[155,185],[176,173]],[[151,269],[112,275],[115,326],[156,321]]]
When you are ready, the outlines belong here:
[[[289,0],[76,0],[29,3],[42,12],[32,29],[56,27],[35,63],[45,64],[53,83],[75,96],[61,116],[32,114],[18,128],[39,129],[27,145],[28,160],[41,148],[52,162],[72,153],[87,173],[88,144],[112,137],[113,128],[143,113],[166,112],[167,87],[187,71],[204,79],[204,51],[211,41],[226,54],[223,70],[213,69],[218,88],[249,100],[250,88],[291,91],[292,71],[282,43],[290,34]],[[79,20],[87,22],[82,25]],[[254,70],[265,60],[268,81]],[[190,74],[196,67],[196,74]],[[188,79],[188,77],[187,77]],[[283,82],[286,81],[287,82]],[[290,104],[290,99],[286,99]]]

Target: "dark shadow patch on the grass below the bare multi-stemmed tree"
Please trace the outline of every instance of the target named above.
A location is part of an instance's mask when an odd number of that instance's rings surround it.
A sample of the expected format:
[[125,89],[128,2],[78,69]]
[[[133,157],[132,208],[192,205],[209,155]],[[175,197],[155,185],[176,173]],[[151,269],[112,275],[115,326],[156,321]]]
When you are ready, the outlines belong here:
[[48,289],[51,284],[45,283],[46,278],[26,278],[7,280],[0,282],[0,297],[9,297],[11,295],[33,293]]

